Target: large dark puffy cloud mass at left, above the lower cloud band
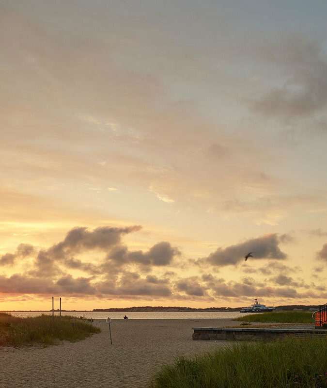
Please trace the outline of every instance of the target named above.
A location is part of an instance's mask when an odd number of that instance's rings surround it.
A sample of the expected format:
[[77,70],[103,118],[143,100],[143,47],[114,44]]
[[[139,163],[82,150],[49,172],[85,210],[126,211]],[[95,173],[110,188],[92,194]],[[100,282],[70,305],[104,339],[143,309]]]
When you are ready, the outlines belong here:
[[[121,238],[124,234],[137,230],[140,230],[140,226],[103,226],[94,230],[75,227],[68,231],[64,240],[48,249],[37,251],[31,244],[18,245],[16,253],[6,253],[0,257],[0,265],[14,265],[17,259],[36,255],[28,271],[30,276],[63,276],[67,270],[107,276],[117,274],[123,266],[134,264],[139,265],[140,270],[150,272],[153,266],[171,265],[173,259],[181,255],[177,247],[165,241],[157,242],[145,252],[129,251],[121,244]],[[105,256],[97,258],[94,263],[75,257],[90,250],[104,252]]]

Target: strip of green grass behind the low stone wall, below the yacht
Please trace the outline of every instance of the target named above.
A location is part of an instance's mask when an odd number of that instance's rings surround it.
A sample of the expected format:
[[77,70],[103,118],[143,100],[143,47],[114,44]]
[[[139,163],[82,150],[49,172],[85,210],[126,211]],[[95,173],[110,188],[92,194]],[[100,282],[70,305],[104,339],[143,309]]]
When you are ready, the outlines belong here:
[[243,322],[278,322],[278,323],[314,323],[312,312],[307,311],[276,311],[260,314],[249,314],[234,319]]

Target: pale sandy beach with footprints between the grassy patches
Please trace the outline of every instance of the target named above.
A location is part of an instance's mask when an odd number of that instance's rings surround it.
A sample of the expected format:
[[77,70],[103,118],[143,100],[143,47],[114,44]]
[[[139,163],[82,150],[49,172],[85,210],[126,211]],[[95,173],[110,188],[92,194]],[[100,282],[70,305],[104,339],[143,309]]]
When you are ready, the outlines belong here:
[[102,331],[75,343],[47,348],[0,348],[0,387],[140,388],[164,363],[226,341],[193,341],[192,327],[236,326],[228,319],[115,320],[95,322]]

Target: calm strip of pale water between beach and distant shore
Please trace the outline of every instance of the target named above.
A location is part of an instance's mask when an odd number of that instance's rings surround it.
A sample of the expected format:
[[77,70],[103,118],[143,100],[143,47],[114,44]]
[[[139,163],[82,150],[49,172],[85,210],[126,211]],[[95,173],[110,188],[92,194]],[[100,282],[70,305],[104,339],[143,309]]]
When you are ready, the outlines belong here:
[[[36,317],[41,314],[51,315],[51,311],[27,311],[27,312],[10,312],[18,317]],[[124,315],[128,319],[217,319],[217,318],[238,318],[244,314],[240,312],[102,312],[102,311],[62,311],[62,315],[73,315],[76,317],[85,317],[93,319],[123,319]],[[59,312],[55,311],[55,315]]]

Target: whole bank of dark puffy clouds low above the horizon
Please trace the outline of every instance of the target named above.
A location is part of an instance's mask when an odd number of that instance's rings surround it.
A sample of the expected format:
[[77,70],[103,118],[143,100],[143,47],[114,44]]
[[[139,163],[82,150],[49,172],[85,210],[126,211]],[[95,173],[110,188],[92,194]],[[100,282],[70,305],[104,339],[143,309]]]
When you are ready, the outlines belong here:
[[[280,260],[287,258],[279,244],[291,242],[288,235],[269,234],[249,239],[225,248],[218,248],[208,257],[188,260],[194,269],[204,275],[181,276],[185,259],[180,250],[170,242],[157,242],[147,251],[130,251],[122,242],[128,233],[140,230],[140,226],[86,227],[71,229],[66,237],[48,249],[37,249],[30,244],[18,245],[15,253],[0,257],[0,265],[8,268],[24,261],[21,274],[0,275],[0,292],[3,294],[67,295],[98,298],[169,298],[215,301],[216,298],[280,297],[298,298],[296,288],[301,282],[292,278],[294,268]],[[327,244],[319,256],[327,260]],[[268,265],[254,269],[244,263],[244,255],[254,252],[250,260],[269,259]],[[88,254],[89,261],[78,258]],[[84,256],[85,257],[85,256]],[[99,259],[100,257],[100,259]],[[184,260],[184,264],[183,264]],[[228,265],[238,265],[248,274],[269,275],[260,282],[247,275],[241,280],[226,281],[210,272]],[[171,271],[176,268],[177,272]],[[84,275],[73,277],[71,271],[79,270]],[[318,286],[313,286],[316,289]],[[321,289],[324,291],[325,288]],[[314,294],[310,294],[312,297]],[[307,295],[308,296],[308,295]]]

